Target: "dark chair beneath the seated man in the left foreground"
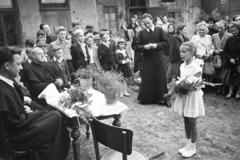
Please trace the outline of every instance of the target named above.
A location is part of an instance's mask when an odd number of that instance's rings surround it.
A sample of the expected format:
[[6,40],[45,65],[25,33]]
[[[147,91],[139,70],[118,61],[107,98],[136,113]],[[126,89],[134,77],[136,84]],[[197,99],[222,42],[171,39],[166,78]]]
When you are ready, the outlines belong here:
[[14,151],[7,140],[7,113],[0,112],[0,160],[11,160],[25,154],[25,151]]

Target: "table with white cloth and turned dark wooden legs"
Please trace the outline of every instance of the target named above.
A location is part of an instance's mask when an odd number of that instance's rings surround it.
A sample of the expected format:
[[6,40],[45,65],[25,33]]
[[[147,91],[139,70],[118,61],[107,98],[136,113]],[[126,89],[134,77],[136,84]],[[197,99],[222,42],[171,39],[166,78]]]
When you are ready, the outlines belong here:
[[[80,140],[81,135],[79,131],[79,125],[81,121],[87,121],[83,113],[85,111],[90,111],[91,115],[98,119],[114,118],[113,125],[121,126],[121,121],[124,119],[128,107],[119,101],[116,101],[114,104],[106,104],[106,99],[104,94],[94,90],[92,88],[87,90],[88,102],[81,103],[76,102],[71,105],[71,107],[64,107],[69,94],[67,91],[59,93],[54,84],[47,86],[42,93],[39,95],[39,98],[45,98],[47,103],[64,113],[69,117],[69,127],[72,128],[71,137],[73,145],[74,160],[80,159]],[[87,126],[87,137],[89,136],[89,125]]]

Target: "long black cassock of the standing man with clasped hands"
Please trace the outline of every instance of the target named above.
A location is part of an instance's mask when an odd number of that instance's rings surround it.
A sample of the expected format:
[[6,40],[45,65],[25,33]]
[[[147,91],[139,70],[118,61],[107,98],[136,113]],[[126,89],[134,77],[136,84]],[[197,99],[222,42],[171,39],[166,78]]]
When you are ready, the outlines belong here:
[[[144,49],[144,45],[156,43],[156,49]],[[163,95],[168,92],[166,73],[162,50],[168,45],[165,32],[160,27],[155,27],[149,32],[144,29],[139,32],[137,48],[143,50],[141,66],[142,82],[138,94],[141,102],[164,101]]]

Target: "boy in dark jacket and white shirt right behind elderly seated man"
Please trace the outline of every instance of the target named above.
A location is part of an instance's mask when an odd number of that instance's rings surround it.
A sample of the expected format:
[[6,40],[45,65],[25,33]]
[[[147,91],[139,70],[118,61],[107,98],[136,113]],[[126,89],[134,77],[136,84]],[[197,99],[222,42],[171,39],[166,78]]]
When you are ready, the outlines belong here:
[[61,79],[63,84],[71,85],[71,76],[68,69],[66,60],[63,58],[63,50],[61,47],[53,48],[53,63],[55,63],[61,69]]

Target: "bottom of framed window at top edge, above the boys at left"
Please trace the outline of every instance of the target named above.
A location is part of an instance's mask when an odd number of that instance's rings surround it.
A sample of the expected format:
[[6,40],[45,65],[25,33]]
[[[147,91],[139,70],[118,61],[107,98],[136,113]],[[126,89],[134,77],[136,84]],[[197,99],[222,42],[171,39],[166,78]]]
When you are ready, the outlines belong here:
[[69,0],[39,0],[40,10],[69,10]]

